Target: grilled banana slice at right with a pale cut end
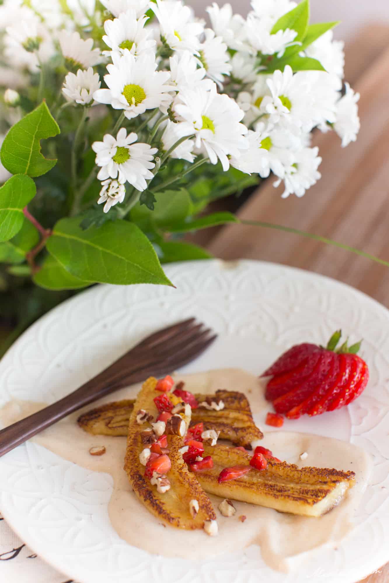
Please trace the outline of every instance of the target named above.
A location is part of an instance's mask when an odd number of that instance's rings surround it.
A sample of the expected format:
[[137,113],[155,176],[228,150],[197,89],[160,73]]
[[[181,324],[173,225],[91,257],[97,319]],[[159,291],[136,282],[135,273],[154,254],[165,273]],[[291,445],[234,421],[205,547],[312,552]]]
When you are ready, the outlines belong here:
[[328,468],[298,468],[287,462],[268,461],[266,470],[252,468],[244,476],[218,483],[226,466],[249,465],[251,456],[243,451],[204,444],[204,455],[211,455],[213,468],[196,472],[209,494],[274,508],[303,516],[319,517],[338,505],[346,490],[355,483],[354,472]]

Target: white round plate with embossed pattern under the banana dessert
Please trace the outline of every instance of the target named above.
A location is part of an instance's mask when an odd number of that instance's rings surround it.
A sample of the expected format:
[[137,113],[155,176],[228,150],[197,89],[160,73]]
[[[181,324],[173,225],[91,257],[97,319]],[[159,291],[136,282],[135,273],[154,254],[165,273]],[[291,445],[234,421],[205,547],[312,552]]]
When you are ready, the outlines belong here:
[[228,366],[260,373],[286,347],[322,343],[342,328],[353,342],[363,338],[366,391],[348,408],[286,421],[283,429],[337,437],[373,456],[356,528],[336,550],[305,561],[298,574],[277,573],[250,552],[196,563],[151,557],[110,525],[110,476],[33,443],[0,458],[0,508],[9,524],[79,583],[295,583],[312,577],[354,583],[382,566],[389,560],[389,312],[334,280],[265,262],[197,261],[169,265],[166,272],[177,289],[94,287],[41,318],[0,362],[0,406],[13,398],[53,402],[147,333],[192,315],[220,339],[185,368],[190,372]]

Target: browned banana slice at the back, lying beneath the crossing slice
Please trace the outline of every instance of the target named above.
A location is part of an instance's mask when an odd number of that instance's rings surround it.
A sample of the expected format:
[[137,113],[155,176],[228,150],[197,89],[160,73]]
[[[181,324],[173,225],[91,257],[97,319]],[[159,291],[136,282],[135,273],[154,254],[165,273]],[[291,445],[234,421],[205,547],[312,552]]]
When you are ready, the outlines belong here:
[[[253,422],[246,396],[237,391],[217,391],[215,395],[196,395],[197,401],[207,403],[210,409],[199,406],[192,409],[192,422],[203,422],[204,430],[220,431],[220,439],[228,439],[235,445],[251,448],[251,442],[262,439],[262,431]],[[211,403],[223,409],[215,410]],[[93,435],[127,436],[128,420],[134,408],[134,401],[124,400],[107,403],[92,409],[78,418],[79,426]]]

